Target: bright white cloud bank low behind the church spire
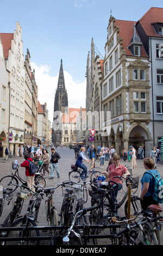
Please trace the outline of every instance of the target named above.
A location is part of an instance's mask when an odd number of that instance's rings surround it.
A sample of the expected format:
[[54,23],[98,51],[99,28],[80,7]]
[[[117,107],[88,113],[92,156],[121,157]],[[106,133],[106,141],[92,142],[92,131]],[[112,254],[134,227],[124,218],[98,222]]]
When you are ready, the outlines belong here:
[[[55,91],[58,86],[58,76],[52,77],[49,75],[51,66],[40,65],[36,63],[30,63],[32,70],[35,69],[35,81],[38,86],[38,100],[40,104],[47,103],[47,109],[49,112],[49,120],[53,121],[54,111],[54,97]],[[68,107],[72,108],[85,108],[86,97],[86,80],[83,83],[74,82],[73,77],[64,71],[65,87],[68,93]]]

